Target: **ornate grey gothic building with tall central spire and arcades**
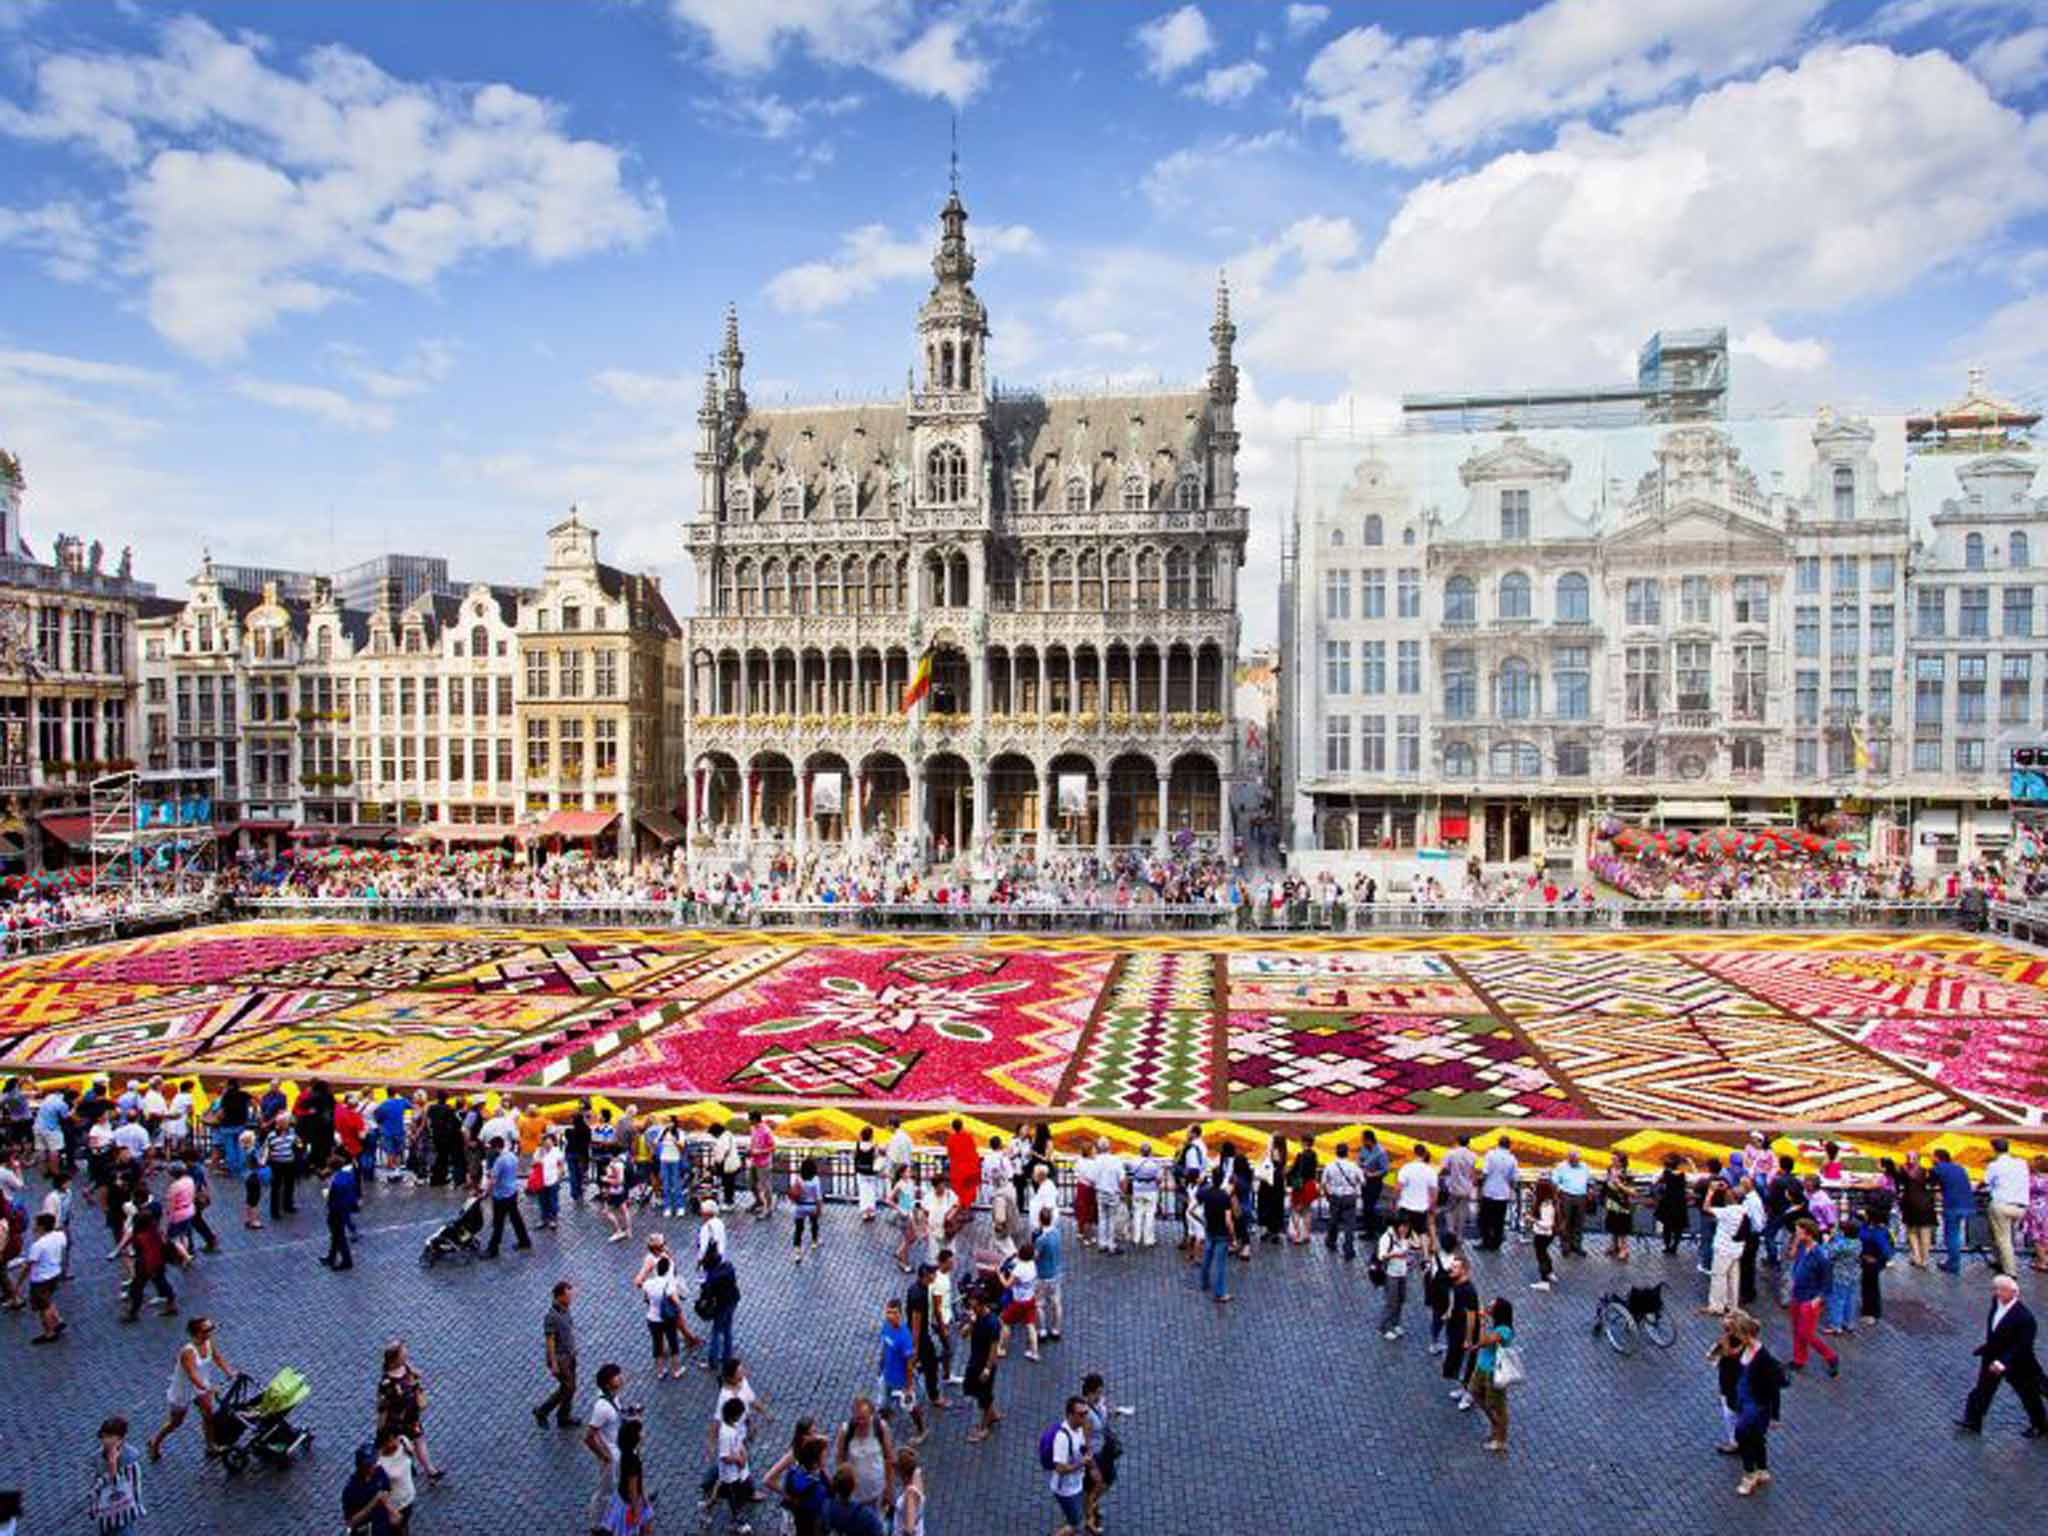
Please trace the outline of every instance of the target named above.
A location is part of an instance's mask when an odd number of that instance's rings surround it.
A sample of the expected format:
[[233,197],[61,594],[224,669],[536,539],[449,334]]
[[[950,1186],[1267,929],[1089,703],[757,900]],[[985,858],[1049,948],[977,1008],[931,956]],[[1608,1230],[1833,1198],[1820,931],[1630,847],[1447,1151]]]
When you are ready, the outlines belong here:
[[1202,387],[995,393],[958,190],[932,274],[891,403],[752,406],[727,311],[684,535],[692,844],[1227,842],[1245,551],[1229,291]]

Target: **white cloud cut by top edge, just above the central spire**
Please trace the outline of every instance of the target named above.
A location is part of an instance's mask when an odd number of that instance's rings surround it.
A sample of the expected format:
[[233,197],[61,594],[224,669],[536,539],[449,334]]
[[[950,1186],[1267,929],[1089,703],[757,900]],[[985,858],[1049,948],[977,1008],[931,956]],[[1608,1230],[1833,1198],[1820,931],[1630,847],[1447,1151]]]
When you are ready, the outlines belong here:
[[766,74],[795,49],[954,106],[989,80],[975,29],[1016,25],[999,8],[924,20],[913,0],[670,0],[670,14],[705,39],[711,63],[727,74]]

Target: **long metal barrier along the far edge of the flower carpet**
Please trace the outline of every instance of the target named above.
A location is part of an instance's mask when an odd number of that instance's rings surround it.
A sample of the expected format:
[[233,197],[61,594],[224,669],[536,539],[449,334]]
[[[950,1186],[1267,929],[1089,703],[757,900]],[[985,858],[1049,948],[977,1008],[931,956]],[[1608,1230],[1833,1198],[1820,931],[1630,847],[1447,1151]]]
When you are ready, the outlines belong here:
[[[1597,905],[1346,905],[1296,901],[1280,909],[1210,903],[1094,907],[973,903],[772,903],[739,901],[434,901],[383,897],[238,897],[246,918],[342,922],[463,922],[477,926],[594,928],[811,928],[881,932],[1618,932],[1952,928],[1946,901],[1632,901]],[[2048,918],[2042,920],[2048,930]]]

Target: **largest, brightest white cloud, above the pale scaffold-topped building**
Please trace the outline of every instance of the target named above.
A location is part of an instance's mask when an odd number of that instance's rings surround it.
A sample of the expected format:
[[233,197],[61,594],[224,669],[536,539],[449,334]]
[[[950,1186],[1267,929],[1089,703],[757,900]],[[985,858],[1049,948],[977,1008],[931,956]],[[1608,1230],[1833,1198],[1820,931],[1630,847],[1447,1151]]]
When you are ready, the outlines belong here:
[[2048,133],[1952,57],[1817,49],[1423,182],[1356,262],[1327,260],[1337,231],[1290,231],[1325,260],[1243,264],[1243,352],[1366,391],[1448,389],[1612,371],[1698,317],[1810,371],[1815,342],[1774,317],[1901,293],[2044,207]]

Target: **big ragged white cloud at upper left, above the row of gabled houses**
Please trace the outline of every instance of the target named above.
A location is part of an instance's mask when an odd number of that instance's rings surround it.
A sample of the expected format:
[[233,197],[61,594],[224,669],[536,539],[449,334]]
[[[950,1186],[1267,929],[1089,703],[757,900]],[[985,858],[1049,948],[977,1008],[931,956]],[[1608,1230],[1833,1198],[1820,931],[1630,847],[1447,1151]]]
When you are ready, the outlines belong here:
[[618,150],[571,139],[537,96],[406,82],[332,45],[276,68],[268,47],[184,16],[156,53],[45,55],[31,104],[0,102],[0,131],[111,164],[135,229],[125,264],[195,356],[240,356],[365,276],[424,287],[487,252],[553,264],[664,221]]

